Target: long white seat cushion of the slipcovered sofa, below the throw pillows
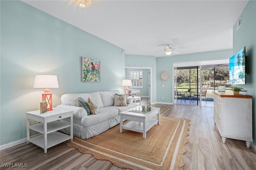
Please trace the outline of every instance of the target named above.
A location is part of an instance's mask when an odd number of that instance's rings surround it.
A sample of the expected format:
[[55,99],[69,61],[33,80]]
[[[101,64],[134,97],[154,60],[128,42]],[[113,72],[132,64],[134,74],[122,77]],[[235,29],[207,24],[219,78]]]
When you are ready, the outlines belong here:
[[84,127],[96,125],[112,119],[113,117],[118,116],[118,109],[102,107],[99,109],[97,115],[88,115],[81,119],[81,125]]

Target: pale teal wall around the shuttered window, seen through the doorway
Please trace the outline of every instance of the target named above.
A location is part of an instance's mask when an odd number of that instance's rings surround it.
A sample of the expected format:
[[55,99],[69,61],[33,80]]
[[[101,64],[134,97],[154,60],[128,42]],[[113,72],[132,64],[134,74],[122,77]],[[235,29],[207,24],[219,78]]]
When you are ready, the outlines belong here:
[[[142,72],[143,72],[143,88],[134,88],[134,89],[141,90],[142,96],[148,96],[148,84],[149,84],[148,72],[149,72],[149,69],[126,68],[125,69],[125,76],[126,76],[126,79],[130,79],[130,71],[140,71],[140,70],[142,70]],[[130,87],[130,89],[132,89],[132,87]]]

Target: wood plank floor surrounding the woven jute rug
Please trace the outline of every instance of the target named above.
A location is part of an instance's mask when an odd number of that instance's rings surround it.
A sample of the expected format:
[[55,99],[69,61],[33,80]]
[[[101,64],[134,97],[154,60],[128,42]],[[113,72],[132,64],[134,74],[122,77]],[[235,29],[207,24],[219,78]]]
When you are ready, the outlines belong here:
[[[223,144],[213,120],[213,107],[155,104],[160,115],[190,119],[190,135],[187,152],[183,155],[185,166],[181,170],[255,170],[256,152],[246,148],[244,141],[227,139]],[[27,163],[24,168],[42,170],[124,170],[106,160],[96,160],[90,154],[61,143],[47,150],[33,144],[23,143],[0,152],[2,163]],[[128,170],[128,169],[126,169]]]

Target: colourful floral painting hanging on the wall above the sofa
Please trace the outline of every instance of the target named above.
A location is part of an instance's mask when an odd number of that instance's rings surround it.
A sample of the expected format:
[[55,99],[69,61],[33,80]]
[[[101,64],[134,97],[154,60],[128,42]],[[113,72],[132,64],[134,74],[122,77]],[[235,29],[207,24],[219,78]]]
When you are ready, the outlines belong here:
[[100,61],[82,57],[82,82],[100,82]]

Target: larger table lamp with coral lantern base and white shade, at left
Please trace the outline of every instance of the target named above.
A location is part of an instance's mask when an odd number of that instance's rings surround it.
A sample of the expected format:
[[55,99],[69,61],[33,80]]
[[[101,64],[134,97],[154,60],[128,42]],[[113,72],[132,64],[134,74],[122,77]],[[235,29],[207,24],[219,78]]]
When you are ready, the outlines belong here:
[[45,88],[42,93],[42,102],[47,102],[47,111],[52,110],[52,93],[48,88],[59,88],[56,75],[36,75],[33,88]]

